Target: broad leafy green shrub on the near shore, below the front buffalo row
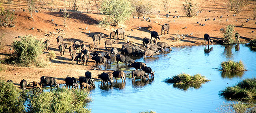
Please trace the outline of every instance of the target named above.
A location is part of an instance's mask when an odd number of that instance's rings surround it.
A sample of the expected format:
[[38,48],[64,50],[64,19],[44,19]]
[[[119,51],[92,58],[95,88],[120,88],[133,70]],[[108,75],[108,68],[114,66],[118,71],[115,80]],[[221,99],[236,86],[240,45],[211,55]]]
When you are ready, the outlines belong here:
[[39,95],[30,95],[28,113],[91,113],[86,109],[90,102],[85,89],[58,88]]

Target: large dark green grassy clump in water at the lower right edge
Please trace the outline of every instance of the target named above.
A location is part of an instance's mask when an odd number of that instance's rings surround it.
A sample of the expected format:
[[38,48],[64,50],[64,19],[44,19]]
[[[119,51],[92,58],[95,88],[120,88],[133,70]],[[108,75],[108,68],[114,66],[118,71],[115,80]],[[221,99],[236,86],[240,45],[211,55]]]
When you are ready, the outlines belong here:
[[236,86],[226,87],[220,95],[228,99],[252,100],[256,96],[256,78],[247,78]]

